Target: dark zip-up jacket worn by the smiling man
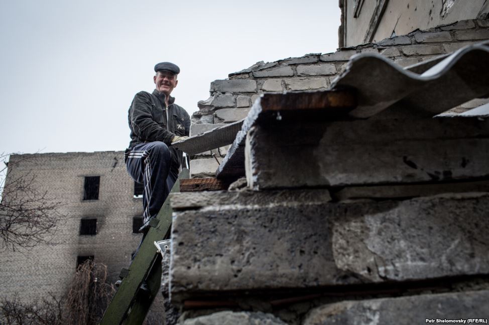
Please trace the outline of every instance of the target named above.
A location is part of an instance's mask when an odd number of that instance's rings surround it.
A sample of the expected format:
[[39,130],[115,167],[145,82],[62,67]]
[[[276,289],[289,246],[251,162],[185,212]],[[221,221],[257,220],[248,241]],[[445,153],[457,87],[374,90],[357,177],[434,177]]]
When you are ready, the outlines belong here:
[[174,102],[175,98],[170,96],[167,114],[165,94],[156,89],[152,94],[139,92],[134,96],[128,114],[131,129],[129,149],[144,142],[164,142],[172,153],[172,169],[182,163],[182,151],[171,146],[171,141],[175,135],[188,136],[190,133],[190,116]]

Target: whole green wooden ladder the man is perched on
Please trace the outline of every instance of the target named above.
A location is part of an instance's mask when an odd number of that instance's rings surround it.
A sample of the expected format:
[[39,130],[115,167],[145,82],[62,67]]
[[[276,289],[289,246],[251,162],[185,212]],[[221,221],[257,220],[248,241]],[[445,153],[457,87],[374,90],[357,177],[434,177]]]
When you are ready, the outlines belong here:
[[[183,169],[171,192],[179,192],[180,180],[188,178],[188,169]],[[123,269],[119,288],[112,297],[99,325],[141,325],[155,296],[160,292],[161,260],[155,241],[170,238],[172,208],[167,198],[157,217],[150,222],[150,230],[134,257],[129,269]],[[151,293],[140,290],[146,280]]]

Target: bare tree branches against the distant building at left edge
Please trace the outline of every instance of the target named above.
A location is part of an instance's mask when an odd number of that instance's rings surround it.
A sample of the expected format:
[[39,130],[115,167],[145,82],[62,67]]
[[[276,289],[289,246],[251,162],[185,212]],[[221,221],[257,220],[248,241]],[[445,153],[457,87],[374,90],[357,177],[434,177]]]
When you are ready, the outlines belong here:
[[[0,175],[7,176],[7,157],[0,155],[0,163],[5,164]],[[21,161],[16,161],[16,164]],[[16,164],[11,162],[9,169],[15,169]],[[56,225],[63,218],[58,211],[62,203],[53,202],[47,191],[38,190],[35,174],[29,171],[17,175],[9,172],[0,188],[0,251],[56,244],[53,239]]]

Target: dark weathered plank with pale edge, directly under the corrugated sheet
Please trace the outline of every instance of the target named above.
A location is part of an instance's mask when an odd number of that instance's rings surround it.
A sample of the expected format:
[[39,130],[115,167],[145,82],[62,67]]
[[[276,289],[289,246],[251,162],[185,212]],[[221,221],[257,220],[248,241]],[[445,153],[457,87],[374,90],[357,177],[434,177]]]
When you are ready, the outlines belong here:
[[216,177],[237,179],[245,176],[245,140],[255,124],[267,127],[343,119],[356,103],[356,93],[352,90],[264,94],[243,122],[241,131],[217,169]]

